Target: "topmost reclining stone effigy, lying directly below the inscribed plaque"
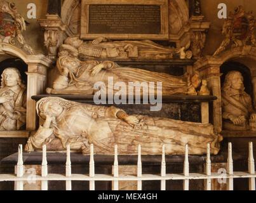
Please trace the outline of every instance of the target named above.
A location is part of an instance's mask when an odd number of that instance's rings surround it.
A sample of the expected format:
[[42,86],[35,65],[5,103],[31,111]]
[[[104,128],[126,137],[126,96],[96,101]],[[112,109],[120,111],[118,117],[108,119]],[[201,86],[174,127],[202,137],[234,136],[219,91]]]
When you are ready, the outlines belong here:
[[58,56],[172,59],[177,53],[180,53],[181,59],[192,57],[187,56],[184,49],[167,48],[149,40],[110,41],[105,37],[99,37],[94,41],[84,42],[79,37],[67,37],[64,44],[60,46]]

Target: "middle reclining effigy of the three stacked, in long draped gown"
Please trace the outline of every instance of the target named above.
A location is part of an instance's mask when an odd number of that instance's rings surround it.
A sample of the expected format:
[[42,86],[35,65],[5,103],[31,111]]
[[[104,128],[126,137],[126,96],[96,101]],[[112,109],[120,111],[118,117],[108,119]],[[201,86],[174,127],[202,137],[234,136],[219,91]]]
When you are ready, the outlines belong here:
[[[137,82],[140,88],[147,88],[148,93],[153,95],[157,90],[162,95],[197,95],[196,88],[201,84],[198,74],[173,76],[170,74],[152,72],[131,67],[120,67],[111,61],[99,62],[87,60],[81,62],[73,56],[61,56],[57,60],[58,75],[53,82],[52,88],[47,88],[48,94],[62,95],[94,95],[97,91],[95,84],[102,82],[105,89],[109,89],[109,80],[112,84],[122,82],[125,86],[131,86],[127,95],[135,94],[133,84]],[[150,83],[154,83],[150,86]],[[161,87],[159,87],[161,82]],[[102,91],[102,89],[101,89]],[[113,89],[114,93],[119,89]]]

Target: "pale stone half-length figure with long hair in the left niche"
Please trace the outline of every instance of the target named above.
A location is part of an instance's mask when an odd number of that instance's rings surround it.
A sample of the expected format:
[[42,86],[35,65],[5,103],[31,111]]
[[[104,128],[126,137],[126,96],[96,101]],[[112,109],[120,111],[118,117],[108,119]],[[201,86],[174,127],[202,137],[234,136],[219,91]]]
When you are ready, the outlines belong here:
[[0,131],[16,131],[26,122],[26,88],[20,72],[7,68],[1,75]]

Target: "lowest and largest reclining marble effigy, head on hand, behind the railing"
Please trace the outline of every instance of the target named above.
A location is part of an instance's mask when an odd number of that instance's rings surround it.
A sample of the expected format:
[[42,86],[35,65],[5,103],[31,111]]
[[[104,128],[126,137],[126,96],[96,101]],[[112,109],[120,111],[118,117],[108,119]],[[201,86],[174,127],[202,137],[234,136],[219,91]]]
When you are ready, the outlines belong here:
[[97,154],[136,154],[138,145],[142,154],[206,154],[210,143],[211,153],[220,150],[222,136],[213,131],[212,124],[175,121],[161,117],[128,115],[121,108],[89,105],[46,97],[36,104],[37,114],[43,121],[36,134],[30,136],[25,150],[62,151],[70,145],[71,150],[90,154],[93,144]]

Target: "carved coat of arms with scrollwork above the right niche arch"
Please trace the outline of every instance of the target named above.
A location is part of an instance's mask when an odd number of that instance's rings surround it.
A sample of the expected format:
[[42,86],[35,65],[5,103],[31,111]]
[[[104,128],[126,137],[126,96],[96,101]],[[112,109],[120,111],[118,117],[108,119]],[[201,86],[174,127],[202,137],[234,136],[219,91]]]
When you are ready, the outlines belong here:
[[229,44],[232,46],[255,46],[255,19],[252,11],[246,13],[243,6],[238,6],[234,13],[230,13],[222,28],[222,34],[225,36],[220,47],[213,56],[219,55]]

